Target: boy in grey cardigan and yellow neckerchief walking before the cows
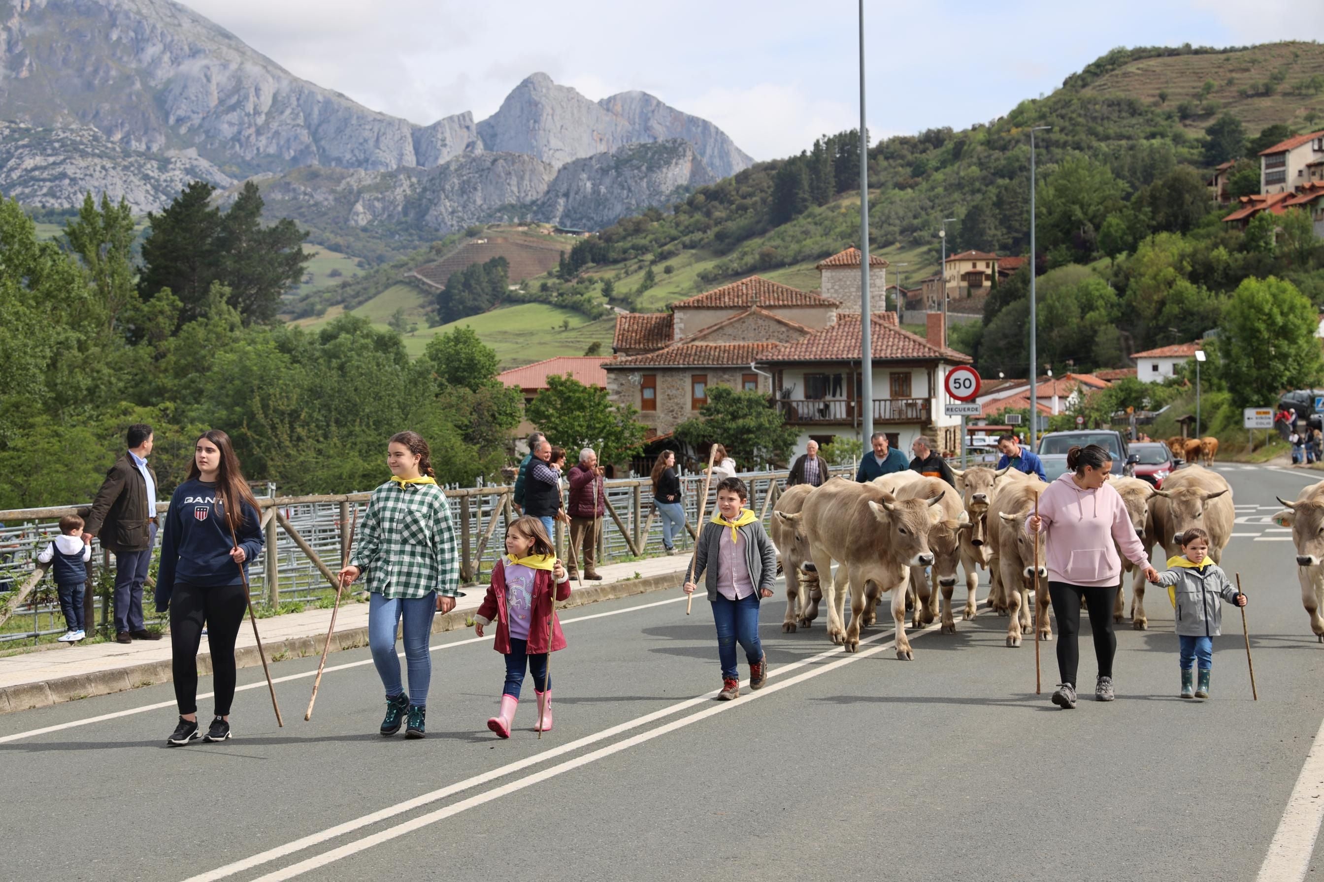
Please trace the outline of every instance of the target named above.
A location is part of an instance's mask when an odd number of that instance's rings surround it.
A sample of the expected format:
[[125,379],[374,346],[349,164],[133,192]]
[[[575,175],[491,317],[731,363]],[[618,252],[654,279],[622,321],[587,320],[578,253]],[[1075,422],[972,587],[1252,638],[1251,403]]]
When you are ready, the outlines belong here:
[[[704,578],[712,620],[718,625],[718,657],[722,660],[722,692],[731,701],[740,694],[736,643],[749,661],[749,688],[761,689],[768,660],[759,643],[759,599],[772,596],[777,581],[777,549],[753,512],[744,506],[749,493],[739,477],[718,484],[718,513],[703,525],[694,547],[694,575]],[[685,592],[698,586],[685,583]]]

